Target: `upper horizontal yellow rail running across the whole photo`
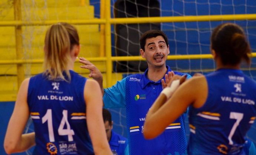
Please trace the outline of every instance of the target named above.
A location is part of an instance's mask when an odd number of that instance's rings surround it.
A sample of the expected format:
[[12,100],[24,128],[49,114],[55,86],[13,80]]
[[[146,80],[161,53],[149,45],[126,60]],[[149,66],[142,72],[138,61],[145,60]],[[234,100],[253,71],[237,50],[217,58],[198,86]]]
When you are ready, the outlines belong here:
[[[106,9],[106,10],[110,10]],[[106,11],[105,11],[106,13]],[[110,13],[109,13],[110,14]],[[198,15],[198,16],[175,16],[175,17],[134,17],[134,18],[109,18],[110,24],[134,24],[134,23],[168,23],[168,22],[194,22],[194,21],[229,21],[229,20],[256,20],[256,14],[231,14],[231,15]],[[58,22],[68,22],[75,25],[106,24],[106,19],[90,20],[48,20],[48,21],[0,21],[0,26],[33,26],[51,25]]]

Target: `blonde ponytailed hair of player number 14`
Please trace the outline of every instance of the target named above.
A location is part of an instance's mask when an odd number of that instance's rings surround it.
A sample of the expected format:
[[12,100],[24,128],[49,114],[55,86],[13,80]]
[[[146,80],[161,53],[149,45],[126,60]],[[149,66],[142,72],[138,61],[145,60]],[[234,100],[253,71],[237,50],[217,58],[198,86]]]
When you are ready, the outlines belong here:
[[[76,28],[68,23],[50,26],[45,37],[44,73],[52,80],[58,78],[70,81],[68,65],[73,45],[79,45]],[[65,75],[63,75],[65,73]]]

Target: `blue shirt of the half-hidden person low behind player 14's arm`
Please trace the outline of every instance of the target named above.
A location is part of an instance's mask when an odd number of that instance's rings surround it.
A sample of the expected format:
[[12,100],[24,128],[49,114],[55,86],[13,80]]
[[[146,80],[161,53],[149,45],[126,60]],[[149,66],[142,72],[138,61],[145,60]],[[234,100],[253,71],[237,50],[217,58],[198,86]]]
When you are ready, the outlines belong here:
[[108,143],[113,154],[129,155],[127,138],[117,134],[113,130],[111,130],[111,138]]

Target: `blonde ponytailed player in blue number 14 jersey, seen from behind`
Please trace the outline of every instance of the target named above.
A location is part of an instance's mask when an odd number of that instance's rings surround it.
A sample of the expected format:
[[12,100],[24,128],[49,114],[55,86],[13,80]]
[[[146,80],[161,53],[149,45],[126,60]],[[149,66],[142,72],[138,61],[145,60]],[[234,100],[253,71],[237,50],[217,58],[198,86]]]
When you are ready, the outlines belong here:
[[[44,72],[20,86],[4,139],[6,153],[36,145],[33,154],[112,154],[99,84],[73,71],[80,51],[76,28],[51,25],[44,51]],[[35,132],[22,134],[29,116]]]

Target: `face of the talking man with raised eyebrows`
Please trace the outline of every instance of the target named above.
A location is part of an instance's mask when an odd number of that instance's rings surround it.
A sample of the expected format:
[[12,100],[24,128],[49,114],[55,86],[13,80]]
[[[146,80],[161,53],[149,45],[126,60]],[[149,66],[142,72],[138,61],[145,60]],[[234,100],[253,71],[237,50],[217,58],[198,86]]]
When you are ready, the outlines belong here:
[[140,52],[142,58],[147,60],[148,68],[165,66],[167,56],[170,54],[169,46],[161,35],[146,39],[145,51],[141,49]]

